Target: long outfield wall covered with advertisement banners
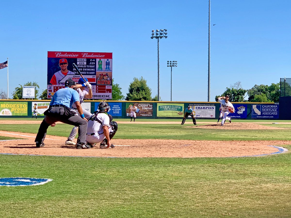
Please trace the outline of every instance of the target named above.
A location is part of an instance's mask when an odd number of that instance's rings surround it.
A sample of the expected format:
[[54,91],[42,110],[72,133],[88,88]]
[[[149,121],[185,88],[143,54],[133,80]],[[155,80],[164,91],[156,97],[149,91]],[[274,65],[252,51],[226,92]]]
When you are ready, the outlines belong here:
[[[281,99],[281,97],[280,97]],[[229,114],[233,119],[291,119],[288,111],[290,99],[282,101],[284,107],[279,103],[257,103],[257,102],[235,102],[235,113]],[[98,108],[100,101],[85,101],[82,107],[93,113]],[[136,103],[138,108],[138,119],[182,119],[185,108],[190,106],[196,119],[218,119],[218,102],[182,102],[182,101],[107,101],[111,106],[109,114],[115,118],[130,118],[129,108]],[[284,103],[283,103],[284,102]],[[34,106],[38,110],[38,117],[43,118],[43,112],[49,107],[48,100],[1,100],[0,117],[26,117],[33,115]],[[281,101],[280,101],[281,105]],[[279,109],[282,110],[280,115]],[[280,116],[279,116],[280,115]]]

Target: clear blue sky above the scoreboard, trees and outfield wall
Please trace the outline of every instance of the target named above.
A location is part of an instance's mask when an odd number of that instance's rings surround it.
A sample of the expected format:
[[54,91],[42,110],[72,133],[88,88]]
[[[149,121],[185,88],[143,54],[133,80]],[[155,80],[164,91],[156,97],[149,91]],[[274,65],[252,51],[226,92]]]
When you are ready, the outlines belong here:
[[[244,89],[290,78],[291,1],[211,1],[211,96],[237,81]],[[0,62],[9,58],[9,97],[18,84],[47,87],[47,51],[112,52],[113,78],[126,96],[143,76],[157,94],[157,40],[152,29],[168,29],[160,40],[160,96],[207,101],[208,1],[3,1]],[[213,24],[216,24],[213,26]],[[7,68],[0,85],[7,91]]]

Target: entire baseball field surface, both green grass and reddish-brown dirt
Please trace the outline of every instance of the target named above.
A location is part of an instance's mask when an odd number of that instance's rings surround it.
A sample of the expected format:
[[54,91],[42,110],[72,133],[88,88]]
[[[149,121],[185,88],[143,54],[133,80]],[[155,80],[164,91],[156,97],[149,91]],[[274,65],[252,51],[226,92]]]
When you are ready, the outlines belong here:
[[72,126],[0,119],[1,217],[291,217],[291,122],[117,119],[113,149],[64,145]]

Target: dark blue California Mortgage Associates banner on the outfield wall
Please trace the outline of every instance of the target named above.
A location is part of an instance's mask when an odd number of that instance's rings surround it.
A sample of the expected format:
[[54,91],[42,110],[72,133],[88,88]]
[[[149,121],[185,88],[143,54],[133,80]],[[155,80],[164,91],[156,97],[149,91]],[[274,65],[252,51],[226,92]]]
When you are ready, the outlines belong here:
[[252,104],[252,118],[279,119],[279,104]]

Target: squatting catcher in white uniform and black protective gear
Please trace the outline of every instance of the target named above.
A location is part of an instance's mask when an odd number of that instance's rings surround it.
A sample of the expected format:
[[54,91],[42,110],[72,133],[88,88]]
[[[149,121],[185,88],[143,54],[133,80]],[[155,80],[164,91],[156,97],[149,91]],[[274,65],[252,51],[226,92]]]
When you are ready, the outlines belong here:
[[118,125],[112,121],[112,116],[108,115],[110,106],[107,102],[101,101],[98,105],[98,110],[95,111],[88,120],[86,142],[91,147],[96,143],[100,143],[100,148],[114,148],[111,144],[111,139],[117,132]]

